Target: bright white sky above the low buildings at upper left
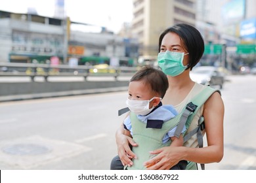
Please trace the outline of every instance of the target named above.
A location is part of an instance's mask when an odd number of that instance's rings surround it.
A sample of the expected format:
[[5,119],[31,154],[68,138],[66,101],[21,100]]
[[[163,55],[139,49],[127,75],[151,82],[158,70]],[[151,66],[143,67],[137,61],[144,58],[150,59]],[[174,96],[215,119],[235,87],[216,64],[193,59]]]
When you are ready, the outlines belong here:
[[[54,16],[55,0],[0,0],[0,10],[27,13],[29,7],[40,16]],[[133,18],[132,0],[65,0],[66,16],[73,22],[107,27],[117,33],[123,22]]]

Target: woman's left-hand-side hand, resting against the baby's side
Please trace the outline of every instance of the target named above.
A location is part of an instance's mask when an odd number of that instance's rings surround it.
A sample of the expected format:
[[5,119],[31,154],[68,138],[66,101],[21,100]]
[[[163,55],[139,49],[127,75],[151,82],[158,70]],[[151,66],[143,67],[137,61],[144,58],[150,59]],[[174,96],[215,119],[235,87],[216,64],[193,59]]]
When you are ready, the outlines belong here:
[[117,152],[123,166],[128,165],[131,167],[133,161],[131,159],[137,158],[137,156],[131,151],[129,144],[132,146],[138,146],[131,137],[119,133],[116,137]]

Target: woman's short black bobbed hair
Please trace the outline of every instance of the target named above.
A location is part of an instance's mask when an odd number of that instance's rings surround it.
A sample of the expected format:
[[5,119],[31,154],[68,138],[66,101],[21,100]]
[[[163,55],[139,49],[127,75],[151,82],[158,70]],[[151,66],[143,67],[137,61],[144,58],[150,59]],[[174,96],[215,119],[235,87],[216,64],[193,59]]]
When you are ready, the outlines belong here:
[[176,33],[181,38],[182,46],[184,46],[184,49],[189,53],[187,69],[190,68],[190,70],[192,70],[192,68],[200,61],[204,52],[204,41],[200,31],[188,24],[173,25],[161,33],[159,37],[158,52],[160,52],[163,37],[169,32]]

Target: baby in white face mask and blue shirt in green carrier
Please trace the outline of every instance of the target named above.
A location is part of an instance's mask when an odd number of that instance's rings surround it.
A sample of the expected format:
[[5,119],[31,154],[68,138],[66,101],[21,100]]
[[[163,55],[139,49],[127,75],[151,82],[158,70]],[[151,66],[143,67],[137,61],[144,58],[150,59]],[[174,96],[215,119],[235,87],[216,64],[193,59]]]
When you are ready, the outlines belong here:
[[[133,158],[133,166],[127,165],[125,169],[146,169],[144,161],[154,157],[148,152],[160,146],[182,146],[182,135],[175,137],[177,122],[171,120],[178,112],[172,105],[161,103],[168,86],[167,76],[150,66],[142,67],[131,78],[126,101],[131,114],[123,122],[124,134],[140,146],[133,147],[137,157]],[[183,127],[182,133],[185,129]],[[185,169],[186,164],[187,161],[181,161],[172,169]]]

